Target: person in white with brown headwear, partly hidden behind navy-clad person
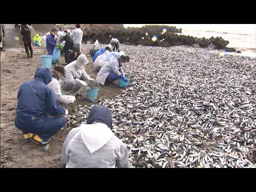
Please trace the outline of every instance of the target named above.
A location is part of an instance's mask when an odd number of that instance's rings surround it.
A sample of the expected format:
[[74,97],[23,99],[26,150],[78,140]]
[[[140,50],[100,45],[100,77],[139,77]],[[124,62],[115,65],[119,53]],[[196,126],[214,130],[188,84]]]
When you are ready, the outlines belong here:
[[57,101],[62,103],[74,103],[76,100],[75,96],[72,95],[64,95],[60,91],[60,83],[59,79],[65,76],[65,68],[59,65],[55,65],[52,69],[52,81],[48,84],[48,86],[52,89],[54,92]]

